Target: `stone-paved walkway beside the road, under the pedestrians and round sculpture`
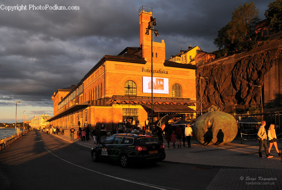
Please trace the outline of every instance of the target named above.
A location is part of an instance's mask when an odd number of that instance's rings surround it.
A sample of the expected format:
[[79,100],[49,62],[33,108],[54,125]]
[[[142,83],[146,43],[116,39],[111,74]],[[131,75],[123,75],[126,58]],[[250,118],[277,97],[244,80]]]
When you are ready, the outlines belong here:
[[[57,136],[57,135],[55,135]],[[70,141],[69,136],[57,136]],[[70,141],[91,148],[94,141]],[[186,144],[181,148],[170,148],[164,141],[166,158],[164,162],[192,164],[194,169],[221,169],[213,178],[206,190],[213,189],[282,189],[282,163],[274,147],[273,158],[259,158],[259,144],[255,141],[233,140],[226,145],[203,146],[191,140],[191,147]],[[282,141],[277,142],[281,151]],[[269,144],[268,144],[269,145]],[[263,152],[265,157],[265,153]],[[189,174],[188,174],[189,175]],[[203,179],[204,180],[204,179]]]

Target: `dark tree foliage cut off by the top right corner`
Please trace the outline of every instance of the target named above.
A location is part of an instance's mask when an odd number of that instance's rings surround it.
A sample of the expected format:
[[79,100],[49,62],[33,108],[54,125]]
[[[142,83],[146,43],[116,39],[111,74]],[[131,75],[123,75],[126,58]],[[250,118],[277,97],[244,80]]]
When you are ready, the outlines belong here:
[[282,30],[282,0],[276,0],[269,3],[264,16],[272,31],[277,33]]

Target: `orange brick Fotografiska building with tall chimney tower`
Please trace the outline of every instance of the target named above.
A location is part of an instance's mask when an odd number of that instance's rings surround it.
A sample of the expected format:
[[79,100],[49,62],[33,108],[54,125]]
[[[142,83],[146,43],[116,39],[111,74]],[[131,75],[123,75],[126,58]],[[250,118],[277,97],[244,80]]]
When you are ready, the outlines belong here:
[[[139,9],[140,46],[118,55],[105,55],[75,86],[54,92],[53,126],[77,127],[101,123],[111,130],[124,119],[151,113],[151,30],[146,28],[152,9]],[[165,42],[153,42],[154,117],[196,112],[196,66],[165,60]],[[195,114],[195,113],[194,113]],[[194,115],[195,116],[195,115]],[[154,118],[156,120],[156,118]]]

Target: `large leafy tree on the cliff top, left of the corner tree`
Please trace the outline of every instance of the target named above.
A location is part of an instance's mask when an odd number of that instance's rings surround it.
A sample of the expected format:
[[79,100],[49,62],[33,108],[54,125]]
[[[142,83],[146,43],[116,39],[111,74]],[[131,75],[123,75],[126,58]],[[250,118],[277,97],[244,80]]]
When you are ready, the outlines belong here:
[[254,2],[240,5],[232,12],[231,21],[218,31],[214,44],[225,51],[244,51],[256,44],[254,28],[259,21],[259,9]]

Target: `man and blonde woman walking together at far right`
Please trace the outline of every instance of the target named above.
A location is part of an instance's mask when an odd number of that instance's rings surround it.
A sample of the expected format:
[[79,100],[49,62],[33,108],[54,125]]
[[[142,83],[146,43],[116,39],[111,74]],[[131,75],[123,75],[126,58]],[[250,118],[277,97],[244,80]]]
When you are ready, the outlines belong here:
[[[260,158],[264,158],[262,156],[262,148],[264,147],[264,151],[265,151],[265,154],[266,154],[266,157],[267,158],[272,158],[273,156],[270,154],[270,150],[271,150],[271,147],[272,145],[274,145],[275,147],[275,150],[278,154],[278,156],[281,157],[281,153],[279,152],[278,150],[278,147],[277,147],[277,142],[276,142],[276,133],[275,133],[275,126],[274,124],[271,124],[269,126],[269,129],[268,131],[266,132],[264,126],[265,126],[265,121],[262,121],[261,122],[261,126],[259,127],[259,131],[258,131],[258,141],[259,141],[259,157]],[[266,139],[269,139],[269,148],[267,147],[267,143],[266,143]]]

